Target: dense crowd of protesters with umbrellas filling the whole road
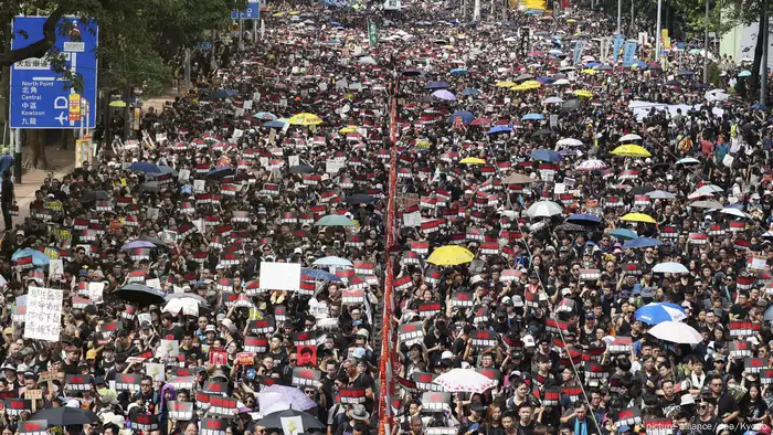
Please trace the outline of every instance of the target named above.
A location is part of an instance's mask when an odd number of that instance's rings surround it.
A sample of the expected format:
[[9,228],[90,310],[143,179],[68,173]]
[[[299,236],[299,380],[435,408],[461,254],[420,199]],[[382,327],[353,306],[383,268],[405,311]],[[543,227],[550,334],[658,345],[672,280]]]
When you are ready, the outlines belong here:
[[276,12],[46,179],[2,241],[0,433],[771,435],[748,72],[507,14]]

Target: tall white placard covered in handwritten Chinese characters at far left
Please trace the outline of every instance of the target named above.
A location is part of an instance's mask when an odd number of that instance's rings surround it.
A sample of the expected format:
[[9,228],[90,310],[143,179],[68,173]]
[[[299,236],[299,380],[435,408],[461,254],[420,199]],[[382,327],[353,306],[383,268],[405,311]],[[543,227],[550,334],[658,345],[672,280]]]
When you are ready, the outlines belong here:
[[24,338],[45,341],[60,340],[63,295],[64,290],[57,288],[30,287],[27,299]]

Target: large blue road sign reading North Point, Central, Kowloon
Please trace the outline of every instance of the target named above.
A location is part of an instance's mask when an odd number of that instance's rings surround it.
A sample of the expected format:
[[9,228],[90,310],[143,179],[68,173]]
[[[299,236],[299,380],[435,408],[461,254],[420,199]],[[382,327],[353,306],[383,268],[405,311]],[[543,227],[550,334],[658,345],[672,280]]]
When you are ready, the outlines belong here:
[[[11,49],[22,49],[43,36],[45,17],[13,19]],[[82,100],[88,102],[88,119],[84,127],[95,128],[97,113],[98,28],[95,21],[63,18],[72,24],[66,35],[57,31],[55,52],[64,53],[66,66],[83,77]],[[24,38],[24,33],[28,38]],[[77,108],[70,107],[70,94],[75,93],[60,73],[51,70],[45,59],[27,59],[11,66],[11,128],[81,128],[73,119]],[[83,109],[82,112],[85,112]],[[68,116],[70,115],[70,116]]]

